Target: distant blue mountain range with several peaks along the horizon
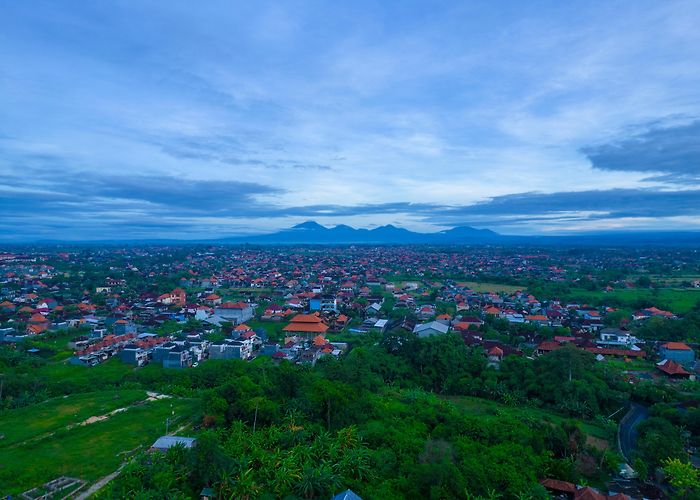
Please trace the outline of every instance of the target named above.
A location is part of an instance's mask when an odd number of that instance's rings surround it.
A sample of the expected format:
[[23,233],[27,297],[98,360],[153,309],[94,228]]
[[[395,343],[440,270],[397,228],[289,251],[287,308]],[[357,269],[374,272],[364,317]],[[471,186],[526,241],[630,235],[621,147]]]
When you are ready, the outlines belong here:
[[417,233],[388,224],[374,229],[355,229],[341,224],[326,227],[306,221],[272,234],[224,238],[226,244],[367,244],[367,245],[507,245],[507,246],[698,246],[700,232],[600,232],[560,236],[511,236],[489,229],[458,226],[436,233]]

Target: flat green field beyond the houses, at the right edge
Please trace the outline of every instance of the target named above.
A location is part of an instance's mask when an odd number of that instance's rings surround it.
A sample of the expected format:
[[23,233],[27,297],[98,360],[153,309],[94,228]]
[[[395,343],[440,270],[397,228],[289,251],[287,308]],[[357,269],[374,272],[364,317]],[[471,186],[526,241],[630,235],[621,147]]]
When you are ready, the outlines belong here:
[[667,307],[676,314],[687,313],[700,302],[700,289],[698,288],[660,288],[656,291],[646,288],[627,288],[611,292],[572,289],[569,295],[600,302],[616,299],[628,307],[633,307],[635,302],[643,299],[658,307]]

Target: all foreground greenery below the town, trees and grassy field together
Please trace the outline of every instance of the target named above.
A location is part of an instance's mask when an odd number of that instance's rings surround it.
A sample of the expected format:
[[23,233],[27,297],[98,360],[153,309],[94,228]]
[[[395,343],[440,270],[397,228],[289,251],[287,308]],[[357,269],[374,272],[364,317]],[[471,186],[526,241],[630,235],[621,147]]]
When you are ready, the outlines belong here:
[[[12,381],[6,396],[70,396],[0,414],[4,429],[32,412],[55,411],[47,428],[7,433],[1,451],[13,465],[0,468],[0,489],[16,491],[11,481],[18,477],[27,487],[59,474],[95,480],[128,462],[101,496],[190,498],[211,487],[224,498],[328,498],[345,488],[363,498],[539,498],[543,477],[602,486],[620,460],[600,445],[615,427],[604,416],[630,397],[659,403],[653,420],[663,421],[659,432],[673,443],[682,443],[680,426],[688,428],[687,415],[673,421],[667,414],[672,391],[632,388],[618,370],[575,349],[510,357],[496,371],[452,334],[419,340],[394,331],[358,344],[345,358],[315,367],[260,359],[134,370],[112,360],[92,369],[30,369],[36,360],[6,356],[13,363],[3,368]],[[174,397],[66,430],[88,414],[138,402],[144,389]],[[60,410],[73,398],[88,408]],[[199,445],[162,457],[139,453],[164,433],[173,403],[178,415],[191,416],[193,428],[181,434],[196,435]],[[659,432],[650,426],[641,436],[650,442],[640,455],[650,474],[669,457],[686,460],[675,444],[654,445]],[[43,438],[34,442],[30,434]],[[37,455],[46,457],[43,469],[20,476]]]

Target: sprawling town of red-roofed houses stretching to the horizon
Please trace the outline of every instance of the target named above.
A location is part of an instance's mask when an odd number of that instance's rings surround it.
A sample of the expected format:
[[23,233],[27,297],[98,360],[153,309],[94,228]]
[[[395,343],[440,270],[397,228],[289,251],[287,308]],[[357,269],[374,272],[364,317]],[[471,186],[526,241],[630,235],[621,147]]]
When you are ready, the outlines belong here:
[[[695,252],[679,250],[641,258],[634,250],[552,248],[22,248],[0,255],[0,402],[11,412],[41,399],[20,372],[12,375],[11,359],[20,355],[46,365],[40,369],[121,370],[117,363],[194,374],[233,360],[332,366],[324,360],[372,343],[417,349],[411,338],[441,337],[458,338],[460,349],[481,357],[483,374],[574,350],[634,391],[696,394],[699,266]],[[482,389],[470,393],[483,397]],[[503,397],[495,399],[507,402]],[[697,401],[675,397],[697,417]],[[644,408],[648,418],[648,404],[640,403],[630,413]],[[599,418],[600,404],[578,401],[557,411],[586,421]],[[639,421],[630,426],[629,413],[616,413],[603,427],[619,421],[618,437],[601,431],[589,438],[599,452],[619,454],[608,489],[633,498],[663,495],[659,483],[642,481],[654,462],[640,453]],[[205,415],[204,422],[212,419]],[[682,449],[697,467],[690,432]],[[564,477],[539,479],[552,494],[591,494]]]

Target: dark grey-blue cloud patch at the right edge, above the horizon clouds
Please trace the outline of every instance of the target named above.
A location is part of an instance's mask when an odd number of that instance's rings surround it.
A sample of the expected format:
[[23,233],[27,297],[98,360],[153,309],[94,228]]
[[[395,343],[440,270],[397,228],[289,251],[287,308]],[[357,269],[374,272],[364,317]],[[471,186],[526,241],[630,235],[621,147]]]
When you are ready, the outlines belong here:
[[631,137],[581,149],[594,168],[650,172],[646,180],[700,183],[700,120],[652,128]]

